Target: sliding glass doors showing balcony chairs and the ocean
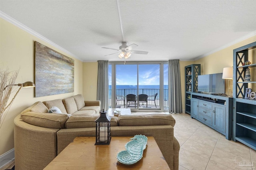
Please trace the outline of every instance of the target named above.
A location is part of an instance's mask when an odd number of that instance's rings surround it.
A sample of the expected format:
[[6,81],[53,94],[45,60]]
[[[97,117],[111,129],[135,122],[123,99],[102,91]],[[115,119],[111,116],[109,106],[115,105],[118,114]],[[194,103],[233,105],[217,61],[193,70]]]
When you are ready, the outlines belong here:
[[168,89],[164,86],[164,68],[168,69],[164,62],[110,62],[110,107],[163,111],[168,101],[164,95]]

